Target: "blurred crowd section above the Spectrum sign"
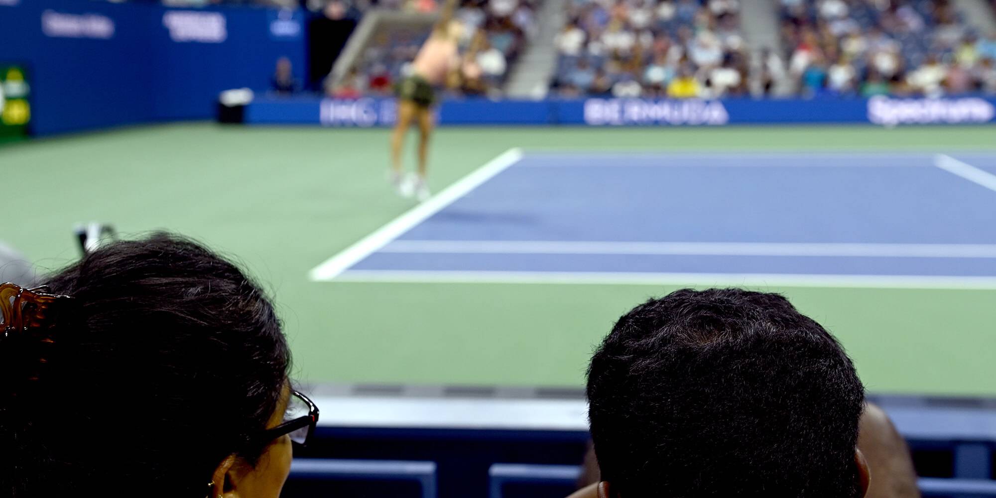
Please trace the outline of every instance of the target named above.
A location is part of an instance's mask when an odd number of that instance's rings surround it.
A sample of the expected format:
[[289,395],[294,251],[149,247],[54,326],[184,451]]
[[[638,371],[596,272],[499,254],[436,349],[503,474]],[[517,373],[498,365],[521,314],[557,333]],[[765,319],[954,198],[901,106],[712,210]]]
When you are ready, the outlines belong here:
[[973,33],[950,0],[781,0],[784,60],[763,87],[803,96],[996,93],[996,34]]

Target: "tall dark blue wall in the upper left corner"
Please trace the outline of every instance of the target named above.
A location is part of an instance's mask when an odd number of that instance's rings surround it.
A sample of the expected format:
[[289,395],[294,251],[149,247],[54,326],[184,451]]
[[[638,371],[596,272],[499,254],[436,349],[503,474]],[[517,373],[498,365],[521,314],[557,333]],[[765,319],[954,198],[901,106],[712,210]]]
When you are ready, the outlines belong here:
[[0,61],[32,78],[35,134],[214,116],[218,93],[306,67],[303,11],[0,1]]

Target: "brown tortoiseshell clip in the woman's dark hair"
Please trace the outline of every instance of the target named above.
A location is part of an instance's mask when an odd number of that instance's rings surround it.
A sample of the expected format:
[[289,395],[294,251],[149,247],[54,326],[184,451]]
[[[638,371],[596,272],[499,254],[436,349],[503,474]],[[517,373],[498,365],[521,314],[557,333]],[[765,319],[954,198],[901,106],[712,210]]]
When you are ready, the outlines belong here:
[[[48,291],[47,287],[24,289],[9,282],[0,285],[0,310],[3,311],[3,335],[0,340],[16,334],[42,332],[55,325],[59,304],[73,298]],[[39,339],[52,342],[51,337]]]

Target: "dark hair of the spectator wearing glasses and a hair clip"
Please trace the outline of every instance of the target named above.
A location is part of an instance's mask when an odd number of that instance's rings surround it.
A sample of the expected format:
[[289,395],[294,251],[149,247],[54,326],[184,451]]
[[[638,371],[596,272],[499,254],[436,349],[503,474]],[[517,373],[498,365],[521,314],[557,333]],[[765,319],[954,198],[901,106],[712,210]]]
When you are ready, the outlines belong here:
[[[274,415],[290,351],[232,263],[168,234],[116,242],[46,282],[72,306],[30,389],[0,390],[0,494],[201,498]],[[0,362],[25,350],[0,341]],[[24,373],[0,370],[3,384]]]

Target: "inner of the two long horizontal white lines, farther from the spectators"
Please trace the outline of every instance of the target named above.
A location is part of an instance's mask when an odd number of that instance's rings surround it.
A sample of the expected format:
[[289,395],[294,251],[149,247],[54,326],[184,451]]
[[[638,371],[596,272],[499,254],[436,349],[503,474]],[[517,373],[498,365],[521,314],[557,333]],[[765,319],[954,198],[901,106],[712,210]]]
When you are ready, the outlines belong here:
[[394,240],[382,247],[379,252],[411,254],[639,254],[996,258],[996,244]]

